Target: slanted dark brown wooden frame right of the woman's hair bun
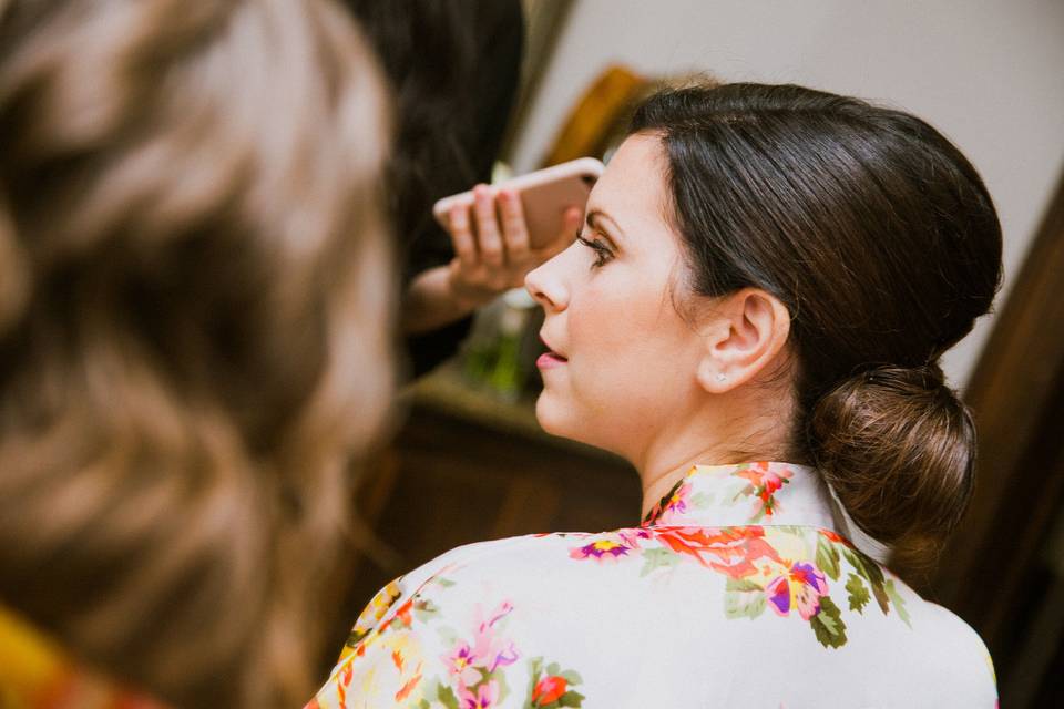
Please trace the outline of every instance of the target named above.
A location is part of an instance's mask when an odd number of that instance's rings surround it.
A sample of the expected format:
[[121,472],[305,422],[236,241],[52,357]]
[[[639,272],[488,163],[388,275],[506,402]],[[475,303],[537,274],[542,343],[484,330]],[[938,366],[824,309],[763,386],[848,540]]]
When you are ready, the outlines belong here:
[[929,589],[1006,674],[1024,645],[1013,626],[1039,602],[1032,571],[1064,501],[1062,285],[1064,177],[965,393],[980,435],[976,491]]

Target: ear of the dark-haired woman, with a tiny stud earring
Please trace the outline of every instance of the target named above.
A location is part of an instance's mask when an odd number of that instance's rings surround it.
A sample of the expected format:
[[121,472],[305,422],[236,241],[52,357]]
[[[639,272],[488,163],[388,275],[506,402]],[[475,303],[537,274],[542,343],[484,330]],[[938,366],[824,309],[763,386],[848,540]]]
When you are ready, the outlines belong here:
[[760,288],[743,288],[715,304],[703,329],[698,383],[724,393],[754,379],[787,343],[790,314]]

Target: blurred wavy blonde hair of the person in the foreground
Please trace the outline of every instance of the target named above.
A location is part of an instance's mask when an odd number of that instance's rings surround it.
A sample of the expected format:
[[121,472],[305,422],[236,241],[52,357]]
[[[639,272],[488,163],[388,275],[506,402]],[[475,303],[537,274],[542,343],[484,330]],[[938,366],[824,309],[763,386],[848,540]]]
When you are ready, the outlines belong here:
[[0,603],[175,705],[313,691],[389,123],[327,0],[0,0]]

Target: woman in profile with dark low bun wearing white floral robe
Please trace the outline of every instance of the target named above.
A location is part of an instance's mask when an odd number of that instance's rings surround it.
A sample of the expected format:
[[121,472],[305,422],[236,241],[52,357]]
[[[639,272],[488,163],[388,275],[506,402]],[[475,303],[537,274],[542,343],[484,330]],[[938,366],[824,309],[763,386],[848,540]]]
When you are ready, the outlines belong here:
[[939,358],[1000,277],[990,195],[923,121],[790,85],[652,96],[526,281],[540,422],[633,463],[642,525],[411,572],[316,702],[993,707],[975,633],[850,540],[930,559],[964,512],[975,431]]

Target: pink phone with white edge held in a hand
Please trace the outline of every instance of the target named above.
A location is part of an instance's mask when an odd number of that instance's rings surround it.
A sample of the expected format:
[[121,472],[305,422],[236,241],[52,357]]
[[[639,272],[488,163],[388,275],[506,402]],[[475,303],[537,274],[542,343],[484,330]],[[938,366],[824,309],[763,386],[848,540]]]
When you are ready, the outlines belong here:
[[[540,248],[550,244],[564,226],[565,210],[569,207],[584,208],[587,195],[594,187],[595,181],[604,169],[602,162],[594,157],[562,163],[538,169],[520,177],[507,179],[493,185],[500,189],[513,189],[521,195],[521,206],[524,210],[524,220],[529,228],[529,244],[532,248]],[[436,220],[447,229],[448,214],[454,204],[464,205],[467,209],[473,206],[473,193],[443,197],[432,207]],[[470,224],[475,230],[475,219],[470,215]]]

